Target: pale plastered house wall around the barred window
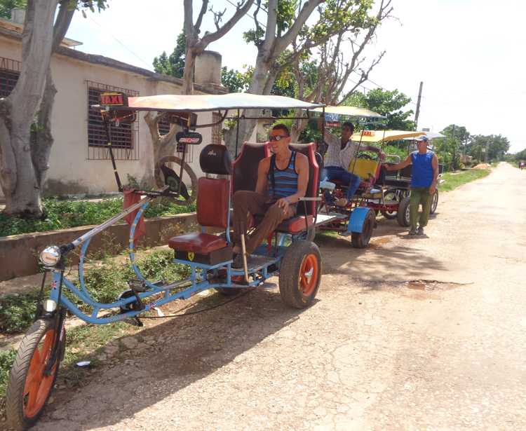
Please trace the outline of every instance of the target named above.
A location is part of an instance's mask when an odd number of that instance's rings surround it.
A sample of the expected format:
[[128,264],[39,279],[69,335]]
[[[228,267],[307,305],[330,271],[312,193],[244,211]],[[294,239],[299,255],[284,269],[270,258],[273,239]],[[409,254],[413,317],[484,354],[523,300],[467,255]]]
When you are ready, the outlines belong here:
[[[20,41],[0,37],[0,56],[21,59]],[[130,71],[92,64],[65,55],[54,55],[51,61],[53,80],[58,90],[53,109],[52,132],[55,143],[51,149],[50,169],[46,178],[46,194],[103,193],[116,191],[109,160],[88,159],[88,86],[86,81],[135,90],[144,95],[180,94],[180,85],[151,81]],[[144,113],[138,114],[138,160],[117,160],[121,179],[127,175],[141,180],[153,175],[154,160],[151,138]],[[199,114],[198,123],[211,123],[212,113]],[[200,129],[203,144],[194,148],[192,169],[202,175],[198,154],[211,142],[210,128]],[[1,191],[0,191],[1,193]]]

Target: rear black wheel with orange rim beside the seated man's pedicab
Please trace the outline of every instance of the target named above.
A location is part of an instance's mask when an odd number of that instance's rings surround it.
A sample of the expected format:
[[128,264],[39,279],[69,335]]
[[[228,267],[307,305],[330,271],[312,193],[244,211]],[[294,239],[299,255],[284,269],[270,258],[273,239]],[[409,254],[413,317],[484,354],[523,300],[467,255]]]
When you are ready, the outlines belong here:
[[292,308],[308,307],[318,293],[320,281],[318,246],[305,240],[292,242],[281,260],[279,272],[279,293],[283,303]]

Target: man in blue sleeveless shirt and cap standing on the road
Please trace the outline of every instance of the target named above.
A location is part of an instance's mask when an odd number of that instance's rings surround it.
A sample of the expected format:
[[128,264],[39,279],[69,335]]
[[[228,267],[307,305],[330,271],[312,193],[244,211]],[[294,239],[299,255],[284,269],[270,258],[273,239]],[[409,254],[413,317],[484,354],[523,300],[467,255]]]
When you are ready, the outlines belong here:
[[[410,235],[423,235],[424,227],[429,220],[429,210],[433,201],[438,180],[438,158],[433,151],[428,151],[428,137],[421,136],[416,139],[417,151],[410,153],[407,158],[397,165],[387,165],[387,170],[403,169],[412,165],[411,170],[411,198],[409,204]],[[422,214],[419,218],[417,229],[418,207],[422,204]]]

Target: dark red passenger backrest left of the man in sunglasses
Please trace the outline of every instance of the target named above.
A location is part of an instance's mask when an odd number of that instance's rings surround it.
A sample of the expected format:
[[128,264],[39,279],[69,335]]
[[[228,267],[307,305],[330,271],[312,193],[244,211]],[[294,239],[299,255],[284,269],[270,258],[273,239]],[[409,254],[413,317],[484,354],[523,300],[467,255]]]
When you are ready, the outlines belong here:
[[232,173],[232,193],[238,190],[255,191],[257,183],[257,166],[259,161],[270,156],[269,142],[245,142],[241,153],[234,160]]

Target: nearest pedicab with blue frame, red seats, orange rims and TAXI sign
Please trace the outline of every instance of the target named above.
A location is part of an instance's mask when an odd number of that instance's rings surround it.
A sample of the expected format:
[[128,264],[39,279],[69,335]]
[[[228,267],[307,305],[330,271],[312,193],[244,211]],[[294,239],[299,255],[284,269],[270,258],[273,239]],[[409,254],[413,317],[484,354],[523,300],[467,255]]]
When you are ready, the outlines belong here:
[[[100,108],[108,137],[108,149],[119,191],[123,191],[119,172],[111,145],[111,125],[133,121],[137,111],[166,111],[185,124],[185,130],[177,134],[177,142],[183,147],[199,144],[201,135],[190,131],[193,113],[199,111],[224,111],[221,121],[229,109],[236,109],[240,119],[240,109],[311,109],[320,105],[309,104],[289,97],[257,96],[248,94],[231,95],[159,95],[151,97],[130,97],[122,93],[103,93]],[[193,120],[193,121],[194,121]],[[175,120],[178,121],[178,120]],[[184,123],[186,121],[186,123]],[[210,127],[212,124],[202,125]],[[199,128],[194,125],[194,130]],[[40,260],[46,271],[43,275],[41,296],[32,327],[27,331],[18,348],[11,369],[6,396],[8,423],[16,430],[24,430],[36,423],[46,405],[58,376],[60,362],[64,357],[66,334],[65,317],[69,311],[85,322],[107,324],[125,319],[136,319],[142,313],[177,299],[189,299],[206,289],[218,289],[223,294],[234,294],[243,289],[260,286],[272,276],[278,276],[279,291],[283,302],[291,307],[309,306],[318,292],[321,282],[321,254],[311,242],[313,229],[317,222],[317,201],[319,187],[319,167],[313,144],[295,145],[309,159],[309,187],[296,217],[283,221],[274,235],[243,261],[242,269],[232,268],[232,244],[230,240],[231,195],[238,189],[255,188],[257,163],[269,155],[267,144],[243,144],[234,163],[227,148],[209,144],[201,151],[199,162],[207,177],[198,179],[197,220],[202,230],[171,238],[168,245],[174,249],[173,264],[189,267],[190,275],[185,280],[165,283],[151,282],[140,272],[135,263],[135,231],[144,210],[152,200],[160,197],[180,196],[173,184],[158,191],[134,190],[140,196],[120,214],[104,221],[76,240],[64,245],[51,245],[43,249]],[[237,153],[237,142],[236,142]],[[318,156],[319,157],[319,156]],[[319,159],[318,159],[319,160]],[[182,170],[183,166],[181,167]],[[221,178],[211,178],[220,175]],[[182,200],[180,200],[183,202]],[[123,292],[112,303],[99,303],[93,299],[84,282],[84,264],[90,240],[117,221],[134,214],[130,226],[128,254],[135,279],[129,281],[130,289]],[[130,216],[131,217],[131,216]],[[330,221],[325,217],[320,223]],[[253,221],[257,223],[257,219]],[[214,228],[221,233],[207,233],[205,227]],[[287,240],[288,239],[288,240]],[[243,240],[243,237],[242,237]],[[67,278],[65,268],[67,256],[72,250],[80,248],[79,285]],[[244,243],[243,243],[244,252]],[[52,276],[50,295],[42,298],[46,273]],[[79,308],[74,301],[65,296],[65,291],[76,296],[90,307]],[[139,321],[140,322],[140,321]]]

